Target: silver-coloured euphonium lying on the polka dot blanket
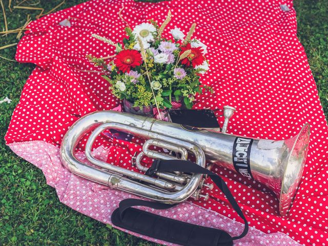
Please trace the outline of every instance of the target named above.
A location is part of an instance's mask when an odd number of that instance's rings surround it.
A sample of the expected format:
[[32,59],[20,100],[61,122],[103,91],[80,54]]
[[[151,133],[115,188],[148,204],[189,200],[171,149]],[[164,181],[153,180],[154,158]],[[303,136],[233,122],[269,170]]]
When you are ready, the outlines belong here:
[[[269,187],[279,198],[279,212],[288,213],[295,197],[309,147],[310,126],[305,124],[299,134],[286,140],[267,140],[225,133],[234,108],[224,107],[223,132],[181,126],[140,115],[116,111],[98,111],[81,117],[65,134],[60,158],[72,173],[103,185],[127,191],[164,203],[177,203],[189,197],[208,199],[203,187],[212,189],[202,174],[157,172],[156,177],[111,165],[91,155],[96,137],[106,129],[115,129],[146,139],[142,152],[134,156],[136,167],[146,155],[160,159],[188,159],[192,154],[197,165],[210,169],[214,164],[254,178]],[[74,156],[78,142],[90,135],[85,154],[99,168],[80,162]],[[149,150],[150,146],[165,148],[175,155]],[[206,163],[209,165],[206,167]]]

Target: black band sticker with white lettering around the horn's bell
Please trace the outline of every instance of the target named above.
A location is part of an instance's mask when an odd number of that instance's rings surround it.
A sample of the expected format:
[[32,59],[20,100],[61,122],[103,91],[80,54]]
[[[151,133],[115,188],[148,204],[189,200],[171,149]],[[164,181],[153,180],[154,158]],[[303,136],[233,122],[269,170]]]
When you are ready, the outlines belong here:
[[232,162],[238,173],[242,176],[253,178],[250,167],[250,154],[253,139],[236,137],[232,150]]

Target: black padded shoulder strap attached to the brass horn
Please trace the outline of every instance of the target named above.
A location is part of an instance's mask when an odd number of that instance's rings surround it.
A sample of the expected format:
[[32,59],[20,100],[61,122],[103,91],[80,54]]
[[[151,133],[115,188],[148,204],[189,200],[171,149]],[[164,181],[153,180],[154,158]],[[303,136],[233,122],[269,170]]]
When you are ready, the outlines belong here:
[[247,220],[228,186],[218,175],[187,160],[156,159],[146,174],[152,176],[157,171],[179,171],[209,175],[215,185],[226,195],[233,209],[243,219],[245,224],[243,232],[239,236],[231,237],[227,232],[219,229],[201,227],[131,208],[134,206],[144,206],[162,210],[172,208],[176,205],[139,199],[125,199],[119,203],[119,207],[113,212],[111,217],[115,226],[145,236],[189,246],[230,246],[233,245],[233,240],[242,238],[247,234],[249,229]]

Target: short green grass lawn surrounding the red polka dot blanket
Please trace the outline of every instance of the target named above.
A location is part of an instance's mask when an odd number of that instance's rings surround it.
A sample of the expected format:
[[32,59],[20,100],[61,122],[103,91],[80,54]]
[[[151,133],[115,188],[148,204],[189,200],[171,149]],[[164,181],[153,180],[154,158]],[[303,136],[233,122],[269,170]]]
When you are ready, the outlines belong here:
[[[22,26],[26,15],[37,11],[6,7],[9,29]],[[12,1],[15,5],[16,0]],[[20,1],[19,1],[20,2]],[[37,1],[34,1],[37,2]],[[42,1],[36,7],[49,11],[61,0]],[[64,9],[84,1],[69,1]],[[29,1],[32,3],[32,1]],[[317,83],[321,103],[328,116],[328,0],[296,0],[298,36],[303,44]],[[4,29],[0,13],[0,29]],[[16,35],[0,37],[0,46],[16,43]],[[15,47],[0,50],[14,59]],[[0,58],[0,97],[11,104],[0,105],[0,245],[154,245],[115,230],[61,204],[53,188],[46,185],[42,172],[17,157],[5,145],[11,114],[34,65],[19,64]]]

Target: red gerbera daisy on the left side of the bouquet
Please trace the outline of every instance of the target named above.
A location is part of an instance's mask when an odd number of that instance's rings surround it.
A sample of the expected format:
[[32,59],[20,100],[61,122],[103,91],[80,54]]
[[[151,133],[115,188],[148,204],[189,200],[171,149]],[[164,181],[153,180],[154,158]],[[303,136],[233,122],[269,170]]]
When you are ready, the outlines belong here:
[[142,62],[140,52],[136,50],[122,50],[114,59],[114,63],[118,70],[122,72],[130,72],[131,68],[140,66]]

